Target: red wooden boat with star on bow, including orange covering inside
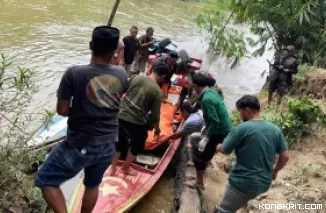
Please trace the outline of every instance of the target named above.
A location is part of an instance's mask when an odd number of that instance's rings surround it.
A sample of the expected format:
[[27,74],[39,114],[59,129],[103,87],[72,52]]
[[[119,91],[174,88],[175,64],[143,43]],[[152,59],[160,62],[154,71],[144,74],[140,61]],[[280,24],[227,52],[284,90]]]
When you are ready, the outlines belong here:
[[[176,107],[171,104],[162,104],[161,110],[161,135],[170,135],[173,133],[173,120]],[[122,173],[120,167],[123,163],[122,161],[118,163],[117,174],[115,176],[109,175],[109,168],[103,176],[99,188],[99,197],[93,212],[128,212],[157,183],[171,162],[180,143],[181,140],[179,139],[170,145],[155,144],[153,143],[153,133],[149,132],[149,137],[145,145],[146,151],[139,155],[136,162],[131,165],[131,167],[137,171],[137,175],[129,176]],[[161,150],[165,151],[161,152]],[[80,212],[84,190],[84,186],[82,182],[80,182],[69,212]]]

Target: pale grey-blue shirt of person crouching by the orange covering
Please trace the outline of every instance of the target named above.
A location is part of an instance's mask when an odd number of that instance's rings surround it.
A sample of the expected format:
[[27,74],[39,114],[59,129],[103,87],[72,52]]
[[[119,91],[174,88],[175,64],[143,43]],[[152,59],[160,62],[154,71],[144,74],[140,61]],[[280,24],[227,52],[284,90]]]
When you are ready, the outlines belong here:
[[190,135],[194,132],[200,132],[203,124],[203,114],[199,110],[196,113],[191,113],[188,119],[182,126],[181,131],[185,135]]

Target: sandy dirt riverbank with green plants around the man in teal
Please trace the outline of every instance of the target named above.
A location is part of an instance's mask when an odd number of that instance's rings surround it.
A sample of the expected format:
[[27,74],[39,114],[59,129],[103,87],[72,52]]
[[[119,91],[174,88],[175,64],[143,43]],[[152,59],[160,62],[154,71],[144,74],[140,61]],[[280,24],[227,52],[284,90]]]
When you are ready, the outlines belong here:
[[[267,105],[267,92],[257,94],[262,105],[262,115],[280,126],[290,149],[288,165],[279,173],[270,190],[250,201],[246,210],[239,212],[278,212],[262,210],[259,204],[323,204],[326,208],[326,137],[325,112],[326,71],[301,66],[289,96],[280,106]],[[240,122],[233,111],[234,124]],[[203,201],[208,212],[222,198],[228,183],[228,172],[235,156],[216,155],[205,176]],[[193,201],[192,201],[193,202]],[[283,210],[282,212],[297,212]],[[300,210],[324,212],[325,210]]]

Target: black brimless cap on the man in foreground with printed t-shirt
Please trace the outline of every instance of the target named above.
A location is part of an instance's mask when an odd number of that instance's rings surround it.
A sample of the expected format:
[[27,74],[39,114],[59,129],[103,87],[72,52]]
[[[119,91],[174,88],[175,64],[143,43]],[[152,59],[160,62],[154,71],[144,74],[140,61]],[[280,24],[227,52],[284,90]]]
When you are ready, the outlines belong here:
[[97,52],[113,52],[118,48],[120,31],[115,27],[98,26],[93,30],[93,50]]

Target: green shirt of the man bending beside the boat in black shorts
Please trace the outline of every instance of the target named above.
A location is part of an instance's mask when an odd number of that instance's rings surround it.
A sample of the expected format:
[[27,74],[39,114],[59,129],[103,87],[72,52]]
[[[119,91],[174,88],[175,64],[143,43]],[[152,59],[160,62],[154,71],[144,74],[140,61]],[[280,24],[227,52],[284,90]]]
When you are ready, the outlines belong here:
[[199,99],[207,133],[227,134],[232,128],[232,121],[221,96],[216,91],[207,89]]

